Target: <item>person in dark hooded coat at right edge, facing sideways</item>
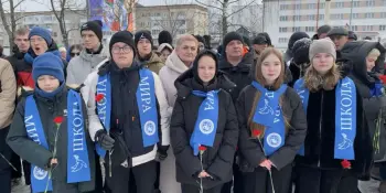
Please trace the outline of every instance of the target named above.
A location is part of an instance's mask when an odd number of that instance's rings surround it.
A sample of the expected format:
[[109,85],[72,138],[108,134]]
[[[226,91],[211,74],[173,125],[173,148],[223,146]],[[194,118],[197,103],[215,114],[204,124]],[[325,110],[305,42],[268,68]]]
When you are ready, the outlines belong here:
[[[384,94],[384,85],[376,73],[379,69],[376,66],[379,67],[379,64],[383,65],[385,61],[385,52],[386,50],[378,42],[368,41],[349,42],[341,51],[345,65],[351,65],[353,69],[350,72],[349,77],[354,81],[356,89],[363,99],[363,108],[366,115],[365,121],[368,125],[371,139],[373,139],[375,162],[372,168],[373,171],[379,170],[379,165],[380,169],[384,168],[383,165],[386,161],[386,130],[383,124],[386,118],[386,96]],[[371,153],[368,152],[368,157],[371,157]],[[386,180],[385,175],[384,178]],[[368,179],[361,176],[360,180]],[[339,192],[356,191],[356,189],[350,190],[350,187],[355,187],[358,182],[358,176],[354,172],[343,178],[342,181],[344,183],[340,184]],[[379,192],[386,192],[385,182],[380,183]]]

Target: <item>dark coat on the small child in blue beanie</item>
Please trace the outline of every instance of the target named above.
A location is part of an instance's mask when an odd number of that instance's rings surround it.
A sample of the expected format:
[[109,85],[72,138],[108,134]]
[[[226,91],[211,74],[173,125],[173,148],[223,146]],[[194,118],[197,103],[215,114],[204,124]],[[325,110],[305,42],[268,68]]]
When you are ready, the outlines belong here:
[[[29,94],[31,95],[31,93]],[[78,193],[93,191],[95,186],[95,154],[94,154],[94,142],[88,135],[88,119],[86,105],[83,103],[83,115],[84,115],[84,128],[85,138],[88,150],[88,160],[90,168],[92,180],[88,182],[81,183],[67,183],[67,118],[65,111],[67,109],[67,88],[63,88],[53,100],[43,98],[36,93],[33,93],[35,98],[39,114],[42,120],[45,138],[50,150],[37,144],[28,138],[28,133],[24,125],[24,110],[25,110],[25,97],[18,104],[11,129],[7,137],[8,144],[12,150],[19,154],[23,160],[37,165],[39,168],[46,169],[50,159],[53,157],[54,150],[56,125],[54,118],[56,116],[64,116],[63,122],[58,131],[57,140],[57,167],[53,170],[53,192],[54,193]]]

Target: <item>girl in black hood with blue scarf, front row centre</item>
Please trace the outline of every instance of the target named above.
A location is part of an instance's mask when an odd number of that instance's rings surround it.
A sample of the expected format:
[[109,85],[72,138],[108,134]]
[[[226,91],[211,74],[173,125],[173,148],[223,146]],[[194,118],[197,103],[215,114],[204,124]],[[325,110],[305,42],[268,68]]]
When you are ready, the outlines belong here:
[[218,71],[211,51],[201,52],[174,85],[178,98],[170,127],[176,181],[183,193],[219,193],[233,178],[238,124],[227,92],[236,85]]

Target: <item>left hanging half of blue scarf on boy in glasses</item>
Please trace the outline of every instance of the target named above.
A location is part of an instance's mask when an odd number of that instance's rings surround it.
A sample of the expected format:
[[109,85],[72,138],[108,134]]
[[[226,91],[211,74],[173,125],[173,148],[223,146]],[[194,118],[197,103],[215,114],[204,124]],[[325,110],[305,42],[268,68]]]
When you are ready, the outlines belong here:
[[[96,95],[105,96],[100,101],[96,101],[96,108],[101,125],[106,131],[109,132],[111,116],[111,83],[109,74],[98,77],[96,89]],[[95,148],[99,157],[105,158],[106,150],[104,150],[99,143],[96,143]]]

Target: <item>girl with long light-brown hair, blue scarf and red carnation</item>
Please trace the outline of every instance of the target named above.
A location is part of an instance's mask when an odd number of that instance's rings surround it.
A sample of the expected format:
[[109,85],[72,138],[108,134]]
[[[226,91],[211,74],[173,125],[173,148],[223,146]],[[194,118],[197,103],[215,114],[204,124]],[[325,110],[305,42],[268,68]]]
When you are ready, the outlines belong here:
[[266,49],[254,82],[237,99],[244,193],[287,193],[292,161],[305,138],[305,115],[297,93],[283,84],[282,60],[280,51]]

